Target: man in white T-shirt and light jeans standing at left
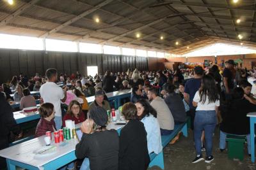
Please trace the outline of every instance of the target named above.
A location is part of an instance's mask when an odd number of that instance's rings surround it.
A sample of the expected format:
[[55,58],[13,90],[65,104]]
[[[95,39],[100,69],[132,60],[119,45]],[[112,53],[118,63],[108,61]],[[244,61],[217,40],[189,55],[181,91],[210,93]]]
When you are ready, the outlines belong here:
[[54,110],[56,111],[54,122],[58,130],[61,129],[62,125],[60,102],[62,101],[64,103],[66,101],[67,87],[63,87],[63,89],[61,89],[61,87],[55,83],[58,80],[56,69],[47,69],[45,76],[48,81],[41,86],[39,92],[44,103],[52,103],[54,105]]

